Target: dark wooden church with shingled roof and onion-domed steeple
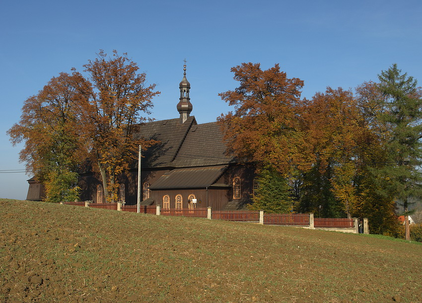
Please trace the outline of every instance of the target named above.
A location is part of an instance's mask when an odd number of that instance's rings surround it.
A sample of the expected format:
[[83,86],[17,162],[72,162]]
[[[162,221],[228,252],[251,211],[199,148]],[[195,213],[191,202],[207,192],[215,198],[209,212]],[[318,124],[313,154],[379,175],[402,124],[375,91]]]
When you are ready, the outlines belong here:
[[[135,135],[159,142],[142,151],[141,205],[211,206],[213,210],[245,208],[253,194],[255,166],[227,155],[223,133],[216,122],[198,124],[190,115],[193,106],[186,65],[179,88],[179,118],[145,123]],[[138,163],[129,174],[121,176],[119,183],[119,200],[136,204]],[[28,195],[33,192],[31,185]],[[94,173],[80,173],[79,186],[81,201],[105,202],[102,182]]]

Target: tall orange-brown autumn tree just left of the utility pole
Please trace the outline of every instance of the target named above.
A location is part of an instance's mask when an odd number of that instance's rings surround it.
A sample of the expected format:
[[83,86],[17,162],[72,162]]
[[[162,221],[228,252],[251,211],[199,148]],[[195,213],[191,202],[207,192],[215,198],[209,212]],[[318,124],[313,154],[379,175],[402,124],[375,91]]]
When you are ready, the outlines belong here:
[[89,98],[80,104],[82,136],[89,145],[90,158],[101,174],[105,197],[117,199],[119,184],[116,176],[129,169],[136,158],[138,145],[146,148],[152,141],[133,138],[139,123],[149,115],[155,84],[146,83],[146,74],[128,58],[113,51],[107,57],[100,51],[94,61],[84,65],[91,83]]

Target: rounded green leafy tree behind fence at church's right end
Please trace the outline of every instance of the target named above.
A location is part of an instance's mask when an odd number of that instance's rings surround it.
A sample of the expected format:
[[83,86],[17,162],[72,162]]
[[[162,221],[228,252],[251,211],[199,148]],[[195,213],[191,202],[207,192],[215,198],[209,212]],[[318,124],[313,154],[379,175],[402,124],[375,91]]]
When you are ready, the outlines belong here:
[[252,196],[251,210],[263,210],[266,213],[285,214],[293,209],[293,198],[287,178],[273,166],[265,166],[258,172],[257,188]]

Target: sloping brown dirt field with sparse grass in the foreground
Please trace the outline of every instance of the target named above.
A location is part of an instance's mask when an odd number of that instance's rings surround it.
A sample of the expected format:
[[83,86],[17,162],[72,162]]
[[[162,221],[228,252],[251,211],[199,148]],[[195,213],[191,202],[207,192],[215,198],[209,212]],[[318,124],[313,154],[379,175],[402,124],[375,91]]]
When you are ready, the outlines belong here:
[[0,200],[1,302],[422,302],[422,245]]

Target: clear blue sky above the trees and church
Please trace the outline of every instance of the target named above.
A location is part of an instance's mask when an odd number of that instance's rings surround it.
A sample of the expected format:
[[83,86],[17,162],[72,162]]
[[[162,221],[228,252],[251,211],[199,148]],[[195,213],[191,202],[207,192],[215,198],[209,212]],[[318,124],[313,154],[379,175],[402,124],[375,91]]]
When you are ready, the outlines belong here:
[[237,85],[230,68],[279,63],[311,98],[326,86],[354,88],[397,63],[422,84],[420,0],[1,0],[0,197],[25,199],[22,146],[6,131],[23,102],[53,76],[82,72],[100,49],[128,53],[156,83],[152,118],[177,118],[187,60],[192,115],[215,121],[219,92]]

